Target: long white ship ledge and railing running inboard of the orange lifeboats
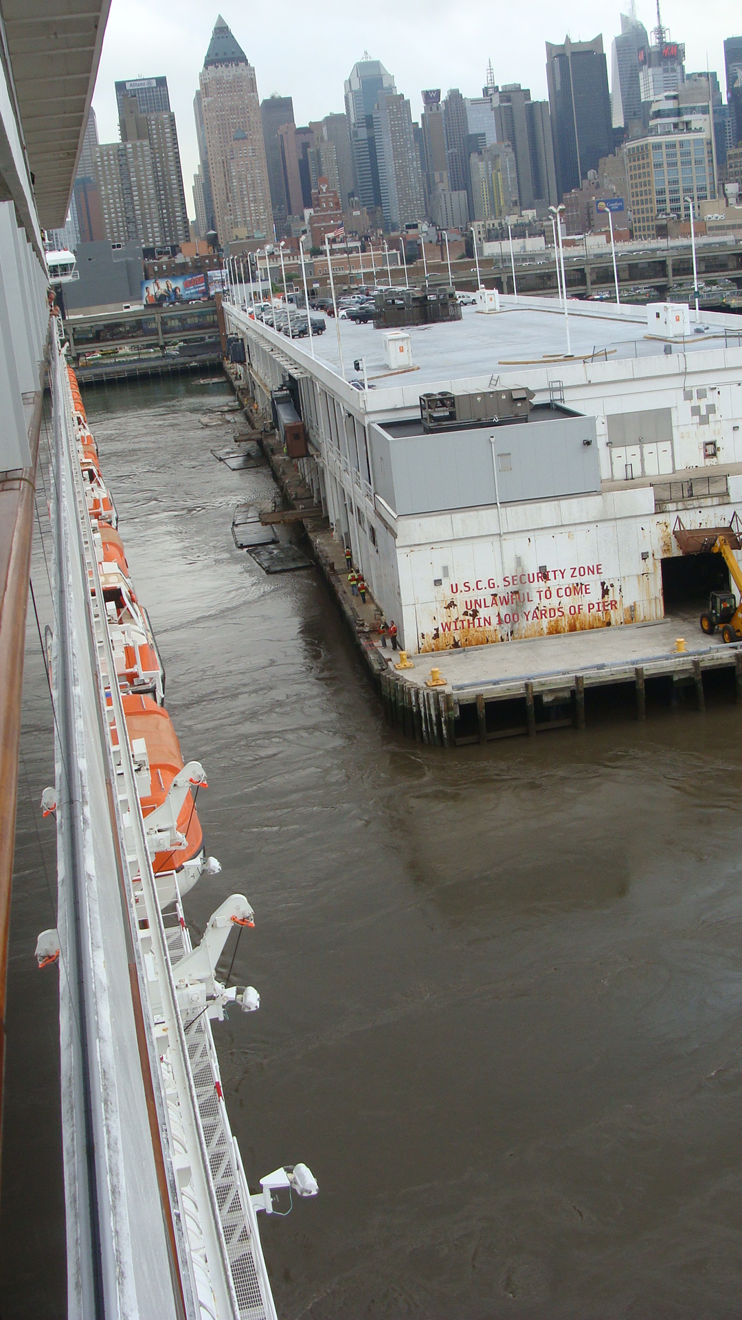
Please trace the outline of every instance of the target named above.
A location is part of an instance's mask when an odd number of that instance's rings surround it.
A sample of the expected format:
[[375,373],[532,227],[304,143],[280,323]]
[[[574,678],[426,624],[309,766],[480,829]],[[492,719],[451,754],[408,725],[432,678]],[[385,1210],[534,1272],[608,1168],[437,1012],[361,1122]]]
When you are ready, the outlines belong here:
[[[180,902],[168,925],[160,911],[55,337],[51,381],[69,1316],[275,1320],[211,1024],[207,1012],[184,1022],[178,1008],[173,966],[190,939]],[[124,983],[114,982],[116,966]],[[139,1088],[124,1094],[140,1065],[156,1123]],[[161,1170],[160,1204],[143,1150]],[[162,1296],[151,1292],[143,1307],[148,1288]]]

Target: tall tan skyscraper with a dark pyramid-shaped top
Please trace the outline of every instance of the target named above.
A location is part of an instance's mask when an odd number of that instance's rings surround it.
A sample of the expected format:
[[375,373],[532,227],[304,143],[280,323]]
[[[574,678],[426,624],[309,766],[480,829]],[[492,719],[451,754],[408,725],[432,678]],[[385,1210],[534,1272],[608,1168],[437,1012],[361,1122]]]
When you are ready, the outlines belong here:
[[269,239],[271,186],[255,69],[220,15],[198,82],[219,240]]

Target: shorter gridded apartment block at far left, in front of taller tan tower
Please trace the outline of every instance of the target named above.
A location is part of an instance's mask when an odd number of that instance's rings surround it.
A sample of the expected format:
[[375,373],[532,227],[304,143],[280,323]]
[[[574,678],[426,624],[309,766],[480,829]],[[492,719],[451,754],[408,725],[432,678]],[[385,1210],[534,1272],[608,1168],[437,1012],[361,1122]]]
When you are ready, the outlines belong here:
[[149,143],[103,143],[95,148],[95,174],[106,236],[111,243],[139,240],[162,247],[165,238]]

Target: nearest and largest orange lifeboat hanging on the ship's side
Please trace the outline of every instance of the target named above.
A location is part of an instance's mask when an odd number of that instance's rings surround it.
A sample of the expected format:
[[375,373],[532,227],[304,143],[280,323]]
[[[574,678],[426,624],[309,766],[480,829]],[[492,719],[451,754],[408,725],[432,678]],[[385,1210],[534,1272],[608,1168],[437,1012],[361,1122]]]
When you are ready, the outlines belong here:
[[[164,706],[158,706],[152,697],[135,694],[124,696],[123,704],[147,828],[147,818],[164,805],[173,787],[173,780],[184,770],[184,758],[176,730]],[[144,751],[145,755],[143,755]],[[201,875],[199,863],[203,855],[203,833],[190,787],[185,789],[185,797],[177,813],[177,830],[185,838],[185,845],[157,851],[152,869],[154,875],[174,871],[178,876],[178,890],[185,894]]]

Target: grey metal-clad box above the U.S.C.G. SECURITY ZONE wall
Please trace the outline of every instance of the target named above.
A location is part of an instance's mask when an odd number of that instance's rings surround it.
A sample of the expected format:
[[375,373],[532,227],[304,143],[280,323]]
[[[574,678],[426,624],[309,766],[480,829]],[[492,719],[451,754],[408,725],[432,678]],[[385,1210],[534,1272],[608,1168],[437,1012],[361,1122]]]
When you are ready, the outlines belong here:
[[495,504],[491,436],[502,504],[601,488],[594,417],[393,437],[372,426],[375,488],[399,515]]

